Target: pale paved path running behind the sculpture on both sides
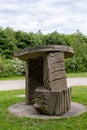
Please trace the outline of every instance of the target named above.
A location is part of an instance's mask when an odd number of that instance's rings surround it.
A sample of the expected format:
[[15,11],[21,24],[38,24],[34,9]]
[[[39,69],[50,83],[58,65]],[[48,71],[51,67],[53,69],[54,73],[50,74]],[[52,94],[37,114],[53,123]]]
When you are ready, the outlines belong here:
[[[87,78],[68,78],[68,86],[87,86]],[[24,89],[25,80],[6,80],[0,81],[0,91]]]

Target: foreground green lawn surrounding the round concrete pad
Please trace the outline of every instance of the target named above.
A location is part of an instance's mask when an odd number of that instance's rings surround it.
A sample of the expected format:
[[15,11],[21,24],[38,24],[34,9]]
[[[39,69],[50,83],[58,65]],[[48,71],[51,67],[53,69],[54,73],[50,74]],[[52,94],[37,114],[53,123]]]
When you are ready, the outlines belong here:
[[[24,101],[24,90],[0,92],[0,130],[87,130],[87,112],[68,119],[30,119],[16,117],[8,111],[12,104]],[[72,100],[87,106],[87,86],[73,87]]]

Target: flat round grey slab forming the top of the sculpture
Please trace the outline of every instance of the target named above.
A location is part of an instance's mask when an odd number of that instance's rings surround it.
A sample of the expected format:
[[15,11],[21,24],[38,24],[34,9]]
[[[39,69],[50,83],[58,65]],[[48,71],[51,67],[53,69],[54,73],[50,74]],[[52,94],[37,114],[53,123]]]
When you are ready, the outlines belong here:
[[74,52],[70,46],[63,45],[43,45],[31,48],[25,48],[21,51],[14,52],[14,56],[21,59],[27,60],[36,57],[42,57],[49,52],[64,52],[64,57],[72,57]]

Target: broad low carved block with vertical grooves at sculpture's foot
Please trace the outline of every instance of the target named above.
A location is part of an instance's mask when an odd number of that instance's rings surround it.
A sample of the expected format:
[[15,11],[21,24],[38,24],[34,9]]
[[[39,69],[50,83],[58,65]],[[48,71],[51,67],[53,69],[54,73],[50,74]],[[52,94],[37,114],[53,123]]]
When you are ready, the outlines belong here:
[[43,114],[63,115],[70,109],[71,88],[61,92],[51,92],[47,89],[35,89],[34,107]]

